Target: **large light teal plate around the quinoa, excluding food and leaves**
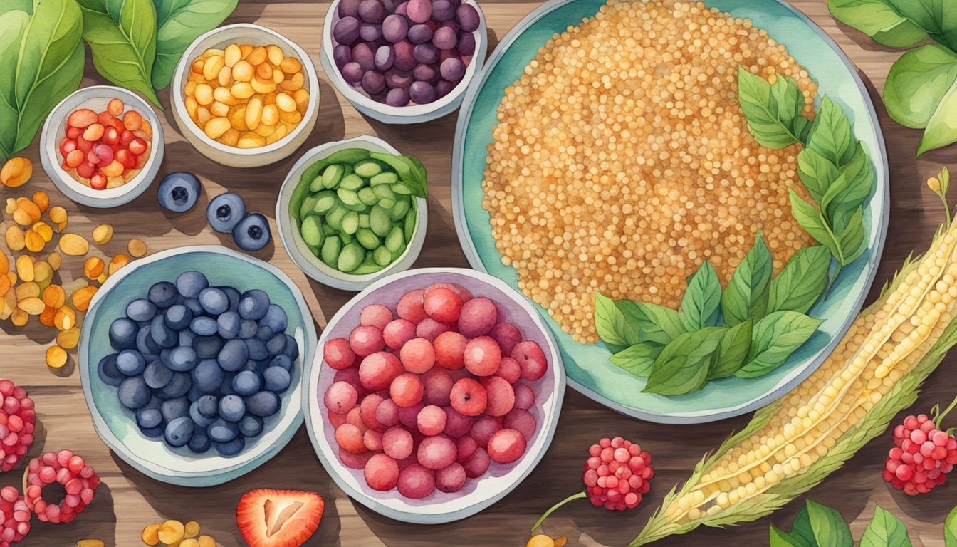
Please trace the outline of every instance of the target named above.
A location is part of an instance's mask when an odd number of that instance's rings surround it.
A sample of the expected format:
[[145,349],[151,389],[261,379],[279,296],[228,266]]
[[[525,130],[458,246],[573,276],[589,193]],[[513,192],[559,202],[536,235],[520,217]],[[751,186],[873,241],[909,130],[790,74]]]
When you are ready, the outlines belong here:
[[[486,148],[492,142],[496,109],[505,87],[521,77],[524,67],[546,40],[581,23],[582,18],[590,17],[604,4],[604,0],[552,0],[532,11],[501,40],[462,103],[452,159],[452,200],[458,238],[473,267],[515,288],[518,276],[514,268],[501,263],[489,215],[481,207],[482,173]],[[614,410],[651,422],[713,422],[745,414],[778,399],[811,376],[857,316],[874,281],[887,231],[889,182],[878,118],[857,70],[835,42],[805,15],[780,1],[707,0],[705,4],[750,18],[755,26],[766,29],[772,38],[787,46],[790,55],[818,83],[818,100],[828,95],[849,113],[857,138],[871,154],[877,185],[864,209],[867,251],[841,271],[828,298],[812,308],[814,317],[825,319],[819,331],[767,376],[726,378],[681,397],[641,393],[645,378],[614,366],[608,360],[611,353],[603,345],[572,340],[544,308],[538,308],[562,350],[568,385]]]

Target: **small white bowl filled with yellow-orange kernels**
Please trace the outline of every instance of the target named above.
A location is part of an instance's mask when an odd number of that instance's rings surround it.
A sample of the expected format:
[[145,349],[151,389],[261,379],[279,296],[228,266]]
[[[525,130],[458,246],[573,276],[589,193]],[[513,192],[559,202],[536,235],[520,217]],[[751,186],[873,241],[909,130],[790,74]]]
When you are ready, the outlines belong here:
[[309,56],[275,31],[227,25],[196,38],[172,82],[173,119],[194,148],[232,167],[268,165],[305,141],[319,113]]

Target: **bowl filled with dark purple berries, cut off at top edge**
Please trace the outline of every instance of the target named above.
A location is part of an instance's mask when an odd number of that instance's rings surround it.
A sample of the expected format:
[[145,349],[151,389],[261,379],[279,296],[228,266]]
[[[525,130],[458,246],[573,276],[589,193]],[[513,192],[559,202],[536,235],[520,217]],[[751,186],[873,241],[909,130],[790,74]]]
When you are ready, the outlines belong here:
[[488,47],[475,0],[335,0],[323,71],[363,114],[418,124],[458,108]]

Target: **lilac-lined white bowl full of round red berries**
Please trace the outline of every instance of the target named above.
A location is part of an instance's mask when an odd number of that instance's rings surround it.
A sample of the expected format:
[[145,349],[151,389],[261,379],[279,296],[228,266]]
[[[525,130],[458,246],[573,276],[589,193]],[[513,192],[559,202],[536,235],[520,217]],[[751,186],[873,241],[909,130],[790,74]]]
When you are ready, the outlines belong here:
[[538,312],[468,269],[369,285],[332,318],[302,407],[333,480],[372,511],[452,522],[500,500],[551,443],[565,369]]

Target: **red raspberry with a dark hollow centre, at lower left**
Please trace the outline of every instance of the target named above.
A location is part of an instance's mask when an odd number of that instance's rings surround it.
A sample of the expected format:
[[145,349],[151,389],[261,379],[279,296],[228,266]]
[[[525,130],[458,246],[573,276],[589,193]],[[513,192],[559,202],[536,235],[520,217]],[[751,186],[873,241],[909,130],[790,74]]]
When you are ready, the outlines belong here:
[[[56,504],[43,499],[43,488],[54,482],[66,491]],[[100,477],[82,458],[69,450],[60,450],[33,458],[27,466],[26,484],[27,507],[40,520],[60,524],[72,522],[93,501],[93,490],[100,486]]]

